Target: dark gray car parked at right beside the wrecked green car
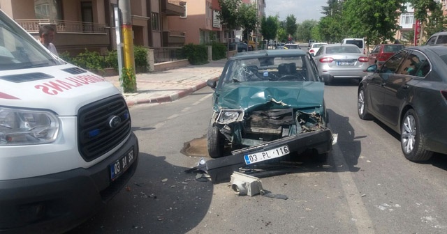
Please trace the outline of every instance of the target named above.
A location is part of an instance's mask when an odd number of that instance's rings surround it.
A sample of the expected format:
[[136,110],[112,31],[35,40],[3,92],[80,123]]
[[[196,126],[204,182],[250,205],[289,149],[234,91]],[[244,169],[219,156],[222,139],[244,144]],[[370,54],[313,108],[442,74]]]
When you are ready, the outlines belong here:
[[447,154],[447,47],[409,47],[390,57],[358,86],[358,116],[374,116],[400,133],[411,161]]

